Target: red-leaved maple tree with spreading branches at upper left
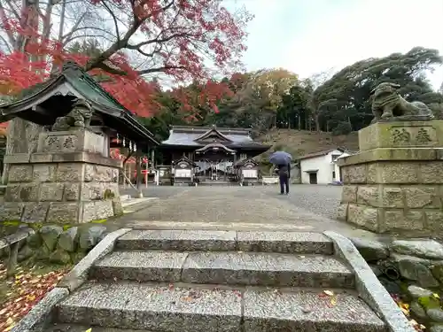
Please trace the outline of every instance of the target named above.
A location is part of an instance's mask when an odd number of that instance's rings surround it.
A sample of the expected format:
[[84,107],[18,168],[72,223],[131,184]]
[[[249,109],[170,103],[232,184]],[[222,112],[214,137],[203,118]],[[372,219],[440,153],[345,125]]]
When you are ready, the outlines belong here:
[[[148,117],[159,109],[153,96],[159,84],[192,81],[200,85],[201,103],[216,110],[215,101],[228,87],[210,80],[240,66],[245,50],[245,10],[229,12],[222,0],[83,0],[67,2],[4,0],[0,3],[0,95],[14,95],[56,73],[74,59],[128,110]],[[83,8],[84,7],[84,8]],[[81,10],[82,8],[82,10]],[[75,18],[67,21],[67,10]],[[58,33],[52,14],[58,11]],[[82,12],[83,11],[83,12]],[[103,45],[93,55],[73,54],[69,45],[85,38]],[[3,50],[2,50],[3,49]],[[183,89],[174,89],[183,109],[192,108]]]

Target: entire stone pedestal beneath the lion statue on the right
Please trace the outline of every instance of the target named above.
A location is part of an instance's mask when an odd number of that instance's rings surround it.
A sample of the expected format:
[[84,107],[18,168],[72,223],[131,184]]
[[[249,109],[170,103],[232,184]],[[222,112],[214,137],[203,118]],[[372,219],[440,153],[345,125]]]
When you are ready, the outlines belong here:
[[378,122],[340,158],[338,219],[377,233],[443,234],[443,121]]

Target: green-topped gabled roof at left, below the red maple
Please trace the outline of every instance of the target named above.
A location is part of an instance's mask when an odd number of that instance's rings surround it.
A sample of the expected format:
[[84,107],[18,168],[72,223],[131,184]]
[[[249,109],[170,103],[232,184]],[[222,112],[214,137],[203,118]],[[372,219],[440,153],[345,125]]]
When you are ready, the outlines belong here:
[[66,62],[58,76],[24,90],[18,101],[0,104],[0,122],[21,118],[51,126],[58,117],[71,111],[77,98],[91,104],[105,127],[137,144],[159,144],[132,112],[105,91],[82,67],[71,61]]

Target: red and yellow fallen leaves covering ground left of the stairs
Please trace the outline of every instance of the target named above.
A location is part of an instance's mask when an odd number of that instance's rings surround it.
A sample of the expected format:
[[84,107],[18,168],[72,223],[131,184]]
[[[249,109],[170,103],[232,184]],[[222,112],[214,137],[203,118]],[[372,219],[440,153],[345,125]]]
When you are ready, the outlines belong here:
[[10,331],[45,294],[66,274],[66,268],[39,274],[36,268],[18,267],[14,276],[6,278],[6,267],[0,264],[0,285],[5,297],[0,310],[0,332]]

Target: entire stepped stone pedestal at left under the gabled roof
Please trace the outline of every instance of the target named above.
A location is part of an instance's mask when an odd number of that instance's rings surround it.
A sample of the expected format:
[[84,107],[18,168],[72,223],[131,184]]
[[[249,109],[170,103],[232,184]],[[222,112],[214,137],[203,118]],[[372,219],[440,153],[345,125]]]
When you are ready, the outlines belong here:
[[42,133],[30,156],[5,156],[0,220],[73,224],[120,214],[121,161],[105,157],[107,149],[103,135],[76,129]]

